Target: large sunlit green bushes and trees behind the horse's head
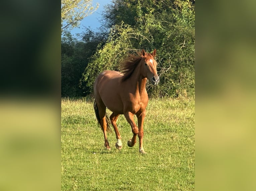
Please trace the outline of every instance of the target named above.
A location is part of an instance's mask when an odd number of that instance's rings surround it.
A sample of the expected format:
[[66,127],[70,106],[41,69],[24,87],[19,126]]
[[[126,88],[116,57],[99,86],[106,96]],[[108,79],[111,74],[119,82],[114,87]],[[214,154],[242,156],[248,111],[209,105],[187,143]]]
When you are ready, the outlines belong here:
[[195,94],[195,7],[190,1],[113,1],[104,13],[115,24],[104,46],[98,46],[81,80],[92,92],[97,75],[118,70],[128,52],[157,49],[160,83],[147,84],[151,96]]

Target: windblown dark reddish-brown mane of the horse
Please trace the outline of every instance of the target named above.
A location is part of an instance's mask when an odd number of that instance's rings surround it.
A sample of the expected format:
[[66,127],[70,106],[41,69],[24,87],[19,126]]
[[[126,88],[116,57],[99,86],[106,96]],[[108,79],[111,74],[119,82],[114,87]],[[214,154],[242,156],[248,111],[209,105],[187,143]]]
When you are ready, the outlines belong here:
[[141,53],[137,52],[137,55],[129,54],[128,57],[122,61],[121,72],[124,74],[122,81],[125,81],[131,77],[132,73],[140,63],[141,59],[142,59]]

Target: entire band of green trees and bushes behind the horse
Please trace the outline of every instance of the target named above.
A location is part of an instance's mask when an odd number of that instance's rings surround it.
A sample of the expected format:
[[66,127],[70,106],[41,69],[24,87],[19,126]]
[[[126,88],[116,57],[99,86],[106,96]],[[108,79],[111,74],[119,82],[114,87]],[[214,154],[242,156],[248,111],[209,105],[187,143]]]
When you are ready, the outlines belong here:
[[195,6],[191,1],[114,0],[105,10],[99,32],[86,29],[80,41],[69,32],[62,35],[62,96],[91,94],[99,73],[119,71],[128,53],[142,48],[157,50],[160,83],[147,84],[150,96],[195,94]]

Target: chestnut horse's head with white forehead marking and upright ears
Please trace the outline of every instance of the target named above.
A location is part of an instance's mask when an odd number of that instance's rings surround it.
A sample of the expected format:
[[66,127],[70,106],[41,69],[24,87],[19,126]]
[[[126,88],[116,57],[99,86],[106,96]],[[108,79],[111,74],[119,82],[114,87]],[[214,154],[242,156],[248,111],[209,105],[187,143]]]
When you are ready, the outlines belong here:
[[153,85],[157,85],[159,82],[159,77],[156,71],[157,63],[154,59],[155,55],[156,55],[156,49],[151,54],[146,53],[144,49],[142,49],[141,75],[147,78],[148,80],[150,80],[150,82]]

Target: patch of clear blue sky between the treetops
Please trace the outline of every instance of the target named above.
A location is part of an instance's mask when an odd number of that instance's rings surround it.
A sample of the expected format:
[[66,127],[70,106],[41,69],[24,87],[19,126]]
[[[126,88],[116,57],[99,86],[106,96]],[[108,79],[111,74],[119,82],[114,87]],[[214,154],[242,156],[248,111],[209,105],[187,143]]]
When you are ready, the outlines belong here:
[[71,34],[75,35],[77,33],[82,33],[85,27],[91,27],[92,30],[96,30],[100,27],[101,12],[104,10],[104,5],[110,4],[112,0],[93,0],[93,6],[99,3],[99,8],[91,15],[85,17],[80,21],[80,28],[74,28],[71,30]]

